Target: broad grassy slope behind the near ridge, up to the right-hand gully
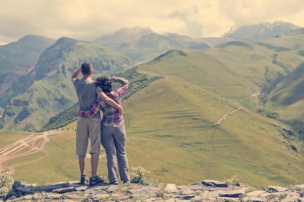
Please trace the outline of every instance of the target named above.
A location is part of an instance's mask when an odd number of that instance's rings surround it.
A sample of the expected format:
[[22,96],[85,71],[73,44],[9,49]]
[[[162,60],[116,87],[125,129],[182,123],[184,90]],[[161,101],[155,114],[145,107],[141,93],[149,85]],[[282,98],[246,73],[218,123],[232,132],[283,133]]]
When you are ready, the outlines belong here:
[[297,50],[304,48],[301,44],[302,35],[230,42],[202,51],[172,51],[140,65],[140,71],[146,73],[147,68],[153,74],[185,79],[255,111],[260,107],[259,96],[252,95],[269,90],[303,62]]

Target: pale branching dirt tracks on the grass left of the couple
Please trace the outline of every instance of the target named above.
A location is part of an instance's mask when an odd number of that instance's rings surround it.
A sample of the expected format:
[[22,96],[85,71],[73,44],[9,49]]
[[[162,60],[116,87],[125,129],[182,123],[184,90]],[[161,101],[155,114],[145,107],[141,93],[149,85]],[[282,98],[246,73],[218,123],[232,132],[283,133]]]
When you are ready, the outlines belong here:
[[[39,160],[47,157],[49,155],[49,153],[44,150],[44,146],[48,141],[50,141],[48,136],[54,135],[54,134],[61,134],[61,133],[62,133],[62,131],[53,130],[53,131],[44,132],[42,134],[39,133],[38,135],[31,134],[21,140],[17,140],[5,147],[0,148],[0,171],[2,169],[4,169],[1,164],[8,160],[13,159],[13,158],[31,155],[31,154],[34,154],[34,153],[37,153],[40,151],[45,154],[44,156],[42,156],[38,159],[34,159],[31,161],[26,161],[26,162],[23,162],[20,164],[15,164],[15,165],[12,165],[9,167],[5,167],[6,169],[9,169],[11,172],[14,172],[14,167],[16,167],[16,166],[39,161]],[[36,141],[37,141],[37,143],[36,143]]]

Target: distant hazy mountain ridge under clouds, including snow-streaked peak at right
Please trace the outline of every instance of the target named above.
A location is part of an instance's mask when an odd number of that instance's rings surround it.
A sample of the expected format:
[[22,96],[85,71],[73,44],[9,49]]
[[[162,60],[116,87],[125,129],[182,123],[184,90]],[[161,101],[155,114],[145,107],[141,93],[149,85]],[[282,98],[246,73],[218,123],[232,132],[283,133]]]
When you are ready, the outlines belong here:
[[[113,35],[101,37],[99,40],[96,39],[94,43],[117,50],[118,52],[131,57],[139,64],[148,62],[171,49],[205,49],[217,47],[235,40],[268,39],[298,28],[300,27],[283,21],[275,21],[272,23],[264,22],[257,25],[231,28],[224,33],[222,37],[193,39],[189,36],[177,33],[158,34],[151,29],[134,27],[120,29]],[[135,38],[133,38],[133,40],[129,40],[130,33],[135,33]],[[156,37],[156,35],[159,35],[159,37]],[[166,38],[161,38],[161,36]],[[169,44],[169,46],[164,47],[164,44]]]

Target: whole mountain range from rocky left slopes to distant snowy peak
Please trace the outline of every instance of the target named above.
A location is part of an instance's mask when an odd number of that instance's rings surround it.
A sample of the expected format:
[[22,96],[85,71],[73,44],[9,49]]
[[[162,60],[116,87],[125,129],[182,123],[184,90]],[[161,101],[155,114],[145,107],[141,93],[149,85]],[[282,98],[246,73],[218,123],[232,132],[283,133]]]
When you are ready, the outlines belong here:
[[[269,29],[262,29],[263,26]],[[224,43],[226,45],[223,46],[236,43],[231,40],[243,39],[250,31],[257,33],[262,30],[260,34],[250,35],[250,38],[260,39],[278,36],[294,28],[298,26],[281,21],[261,23],[230,30],[223,37],[213,39],[192,39],[176,33],[157,34],[140,27],[124,28],[94,42],[67,37],[54,42],[45,37],[27,35],[17,42],[0,46],[0,126],[37,131],[52,116],[72,106],[76,95],[69,77],[85,61],[93,64],[96,74],[118,75],[172,49],[210,49],[211,46],[203,41],[212,40],[210,44],[220,47]],[[32,116],[39,117],[39,121],[33,122]]]

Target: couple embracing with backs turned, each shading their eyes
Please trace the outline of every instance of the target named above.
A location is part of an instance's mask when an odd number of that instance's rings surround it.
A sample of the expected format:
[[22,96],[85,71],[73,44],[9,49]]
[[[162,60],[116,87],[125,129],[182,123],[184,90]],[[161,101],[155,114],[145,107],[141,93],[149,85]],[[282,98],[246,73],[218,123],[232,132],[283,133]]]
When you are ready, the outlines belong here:
[[[83,74],[83,78],[78,78]],[[80,109],[78,110],[76,132],[76,155],[78,155],[81,172],[81,184],[85,184],[88,178],[85,174],[85,155],[90,140],[91,177],[90,185],[104,182],[97,174],[101,144],[107,157],[109,183],[118,185],[118,172],[116,169],[116,157],[120,180],[123,183],[130,182],[128,159],[126,155],[126,132],[123,123],[122,107],[120,106],[122,95],[126,92],[129,82],[124,78],[104,76],[91,79],[93,66],[89,62],[82,64],[76,70],[71,80],[75,87]],[[121,87],[113,92],[112,82],[118,82]],[[100,109],[102,110],[102,120]]]

